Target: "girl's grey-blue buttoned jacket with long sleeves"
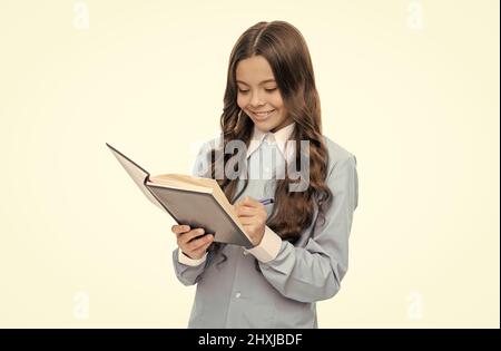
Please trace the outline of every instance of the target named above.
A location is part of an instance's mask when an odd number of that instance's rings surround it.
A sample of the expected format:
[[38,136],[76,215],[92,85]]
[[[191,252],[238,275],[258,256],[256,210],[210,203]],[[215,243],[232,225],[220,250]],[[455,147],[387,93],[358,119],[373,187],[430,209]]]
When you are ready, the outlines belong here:
[[[325,213],[325,223],[314,221],[304,228],[301,238],[293,245],[282,242],[275,260],[259,262],[243,247],[226,245],[215,256],[198,266],[178,261],[178,248],[173,252],[174,269],[185,285],[197,284],[188,328],[317,328],[316,301],[334,296],[348,267],[348,236],[353,213],[358,202],[356,158],[327,137],[328,172],[326,184],[334,199]],[[206,143],[194,165],[199,174],[199,164],[208,162]],[[263,143],[262,157],[269,157],[275,145]],[[248,159],[253,167],[254,153]],[[267,156],[268,155],[268,156]],[[285,160],[284,160],[285,162]],[[242,184],[244,181],[239,181]],[[275,179],[249,179],[242,197],[274,197]],[[268,215],[273,207],[266,206]],[[318,223],[317,223],[318,222]],[[222,254],[227,256],[223,261]]]

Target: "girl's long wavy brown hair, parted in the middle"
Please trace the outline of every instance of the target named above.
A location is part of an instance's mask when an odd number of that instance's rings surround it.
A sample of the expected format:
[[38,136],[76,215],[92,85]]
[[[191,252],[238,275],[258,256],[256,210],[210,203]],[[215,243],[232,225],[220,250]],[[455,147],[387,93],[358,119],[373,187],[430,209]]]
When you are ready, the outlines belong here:
[[[310,142],[310,179],[304,192],[291,192],[289,185],[296,181],[287,175],[276,181],[275,204],[267,221],[267,226],[283,240],[295,243],[303,230],[312,224],[314,202],[323,217],[326,206],[332,201],[332,192],[325,184],[328,153],[322,136],[321,105],[315,87],[315,78],[310,51],[301,32],[285,21],[258,22],[248,28],[235,43],[229,56],[223,115],[220,116],[223,149],[230,140],[243,140],[247,147],[252,137],[254,123],[237,105],[236,67],[240,60],[253,56],[263,56],[272,67],[274,78],[284,101],[288,117],[296,123],[291,140],[299,149],[299,140]],[[215,177],[216,152],[210,152],[212,178]],[[304,157],[305,155],[303,155]],[[236,154],[224,154],[224,165]],[[301,165],[301,153],[295,154],[296,165]],[[304,163],[304,158],[303,158]],[[243,169],[237,169],[242,172]],[[219,178],[219,176],[218,176]],[[238,178],[217,179],[226,197],[233,204],[243,193],[245,185],[236,195]],[[213,243],[209,253],[215,254],[223,244]],[[223,262],[226,261],[224,256]]]

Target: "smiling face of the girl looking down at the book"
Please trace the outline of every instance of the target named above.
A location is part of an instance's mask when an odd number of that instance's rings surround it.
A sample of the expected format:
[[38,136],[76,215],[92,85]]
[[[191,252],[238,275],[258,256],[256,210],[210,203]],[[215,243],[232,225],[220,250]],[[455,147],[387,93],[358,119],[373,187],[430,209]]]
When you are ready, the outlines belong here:
[[[242,60],[236,67],[237,104],[263,131],[276,131],[292,123],[287,118],[272,67],[263,56]],[[264,114],[258,114],[264,113]]]

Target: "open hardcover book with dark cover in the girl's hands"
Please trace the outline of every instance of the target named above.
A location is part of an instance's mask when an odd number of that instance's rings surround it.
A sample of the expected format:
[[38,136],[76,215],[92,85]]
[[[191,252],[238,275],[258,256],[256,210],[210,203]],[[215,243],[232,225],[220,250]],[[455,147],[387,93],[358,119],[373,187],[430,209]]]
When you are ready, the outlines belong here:
[[106,144],[146,197],[178,224],[202,227],[214,241],[253,247],[249,236],[215,179],[183,174],[150,176],[130,158]]

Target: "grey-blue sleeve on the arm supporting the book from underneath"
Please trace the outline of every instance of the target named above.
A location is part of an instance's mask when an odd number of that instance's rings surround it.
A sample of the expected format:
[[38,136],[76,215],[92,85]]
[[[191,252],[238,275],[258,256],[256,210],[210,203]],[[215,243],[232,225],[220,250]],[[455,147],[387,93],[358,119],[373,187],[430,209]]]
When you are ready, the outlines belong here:
[[[209,160],[210,160],[210,145],[209,143],[205,143],[198,150],[195,164],[193,165],[191,168],[191,175],[197,177],[210,177],[208,163]],[[190,262],[195,261],[185,260],[185,262],[183,263],[179,262],[179,247],[176,247],[176,250],[174,250],[173,252],[174,271],[176,273],[177,279],[185,285],[194,285],[202,279],[207,261],[204,260],[198,264],[194,264]]]

